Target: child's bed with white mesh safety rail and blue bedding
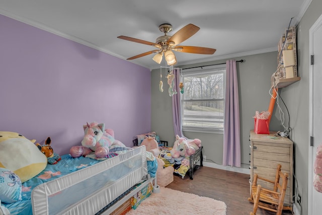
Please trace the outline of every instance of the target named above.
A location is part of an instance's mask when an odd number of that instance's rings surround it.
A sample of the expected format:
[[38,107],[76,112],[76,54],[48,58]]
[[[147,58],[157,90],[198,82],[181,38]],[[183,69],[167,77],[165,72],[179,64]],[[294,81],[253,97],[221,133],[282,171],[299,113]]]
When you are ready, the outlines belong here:
[[[141,186],[153,180],[145,147],[117,147],[114,153],[118,156],[105,160],[63,155],[22,184],[21,201],[1,206],[10,214],[109,214],[131,197],[142,179]],[[0,214],[5,211],[0,207]]]

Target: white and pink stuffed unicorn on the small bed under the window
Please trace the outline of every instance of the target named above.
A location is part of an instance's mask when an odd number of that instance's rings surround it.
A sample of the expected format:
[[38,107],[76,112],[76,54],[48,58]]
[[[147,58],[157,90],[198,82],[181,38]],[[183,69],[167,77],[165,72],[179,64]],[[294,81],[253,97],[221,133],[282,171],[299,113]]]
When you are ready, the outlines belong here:
[[176,135],[176,141],[173,149],[171,150],[171,156],[173,158],[190,157],[201,147],[200,139],[186,139]]

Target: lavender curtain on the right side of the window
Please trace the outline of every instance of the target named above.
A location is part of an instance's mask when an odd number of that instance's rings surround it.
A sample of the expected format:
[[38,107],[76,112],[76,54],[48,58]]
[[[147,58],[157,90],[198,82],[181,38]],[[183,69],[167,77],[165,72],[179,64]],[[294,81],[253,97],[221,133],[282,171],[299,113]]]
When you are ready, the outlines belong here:
[[237,69],[235,60],[226,61],[223,166],[240,167],[240,124]]

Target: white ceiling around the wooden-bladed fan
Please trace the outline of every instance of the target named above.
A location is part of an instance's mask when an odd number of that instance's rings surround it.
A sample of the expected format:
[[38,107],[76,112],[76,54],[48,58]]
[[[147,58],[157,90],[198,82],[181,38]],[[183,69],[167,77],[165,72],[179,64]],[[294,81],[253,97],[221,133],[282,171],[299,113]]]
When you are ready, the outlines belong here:
[[[155,42],[169,23],[173,35],[191,23],[200,30],[180,45],[215,48],[212,55],[175,52],[177,65],[276,51],[311,0],[0,0],[0,14],[127,59],[154,50],[118,39]],[[153,69],[153,54],[130,60]],[[163,65],[164,64],[164,65]],[[165,61],[161,63],[165,66]]]

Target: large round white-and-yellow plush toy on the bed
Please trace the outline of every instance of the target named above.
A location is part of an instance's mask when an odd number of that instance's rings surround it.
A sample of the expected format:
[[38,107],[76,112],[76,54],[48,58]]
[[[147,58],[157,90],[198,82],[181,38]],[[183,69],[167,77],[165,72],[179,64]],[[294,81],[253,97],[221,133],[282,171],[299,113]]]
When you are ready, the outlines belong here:
[[47,158],[23,135],[0,131],[0,167],[17,174],[21,182],[28,181],[47,166]]

